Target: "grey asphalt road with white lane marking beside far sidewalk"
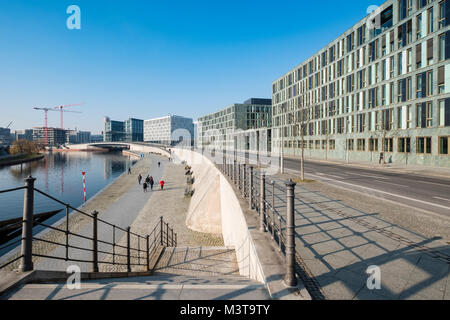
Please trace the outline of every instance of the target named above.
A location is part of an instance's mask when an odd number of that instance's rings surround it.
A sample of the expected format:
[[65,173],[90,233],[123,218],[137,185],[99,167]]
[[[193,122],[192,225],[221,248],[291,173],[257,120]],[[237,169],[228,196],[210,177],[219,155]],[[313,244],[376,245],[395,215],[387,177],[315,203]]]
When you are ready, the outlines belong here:
[[[300,161],[284,166],[299,173]],[[305,177],[450,217],[450,179],[305,161]]]

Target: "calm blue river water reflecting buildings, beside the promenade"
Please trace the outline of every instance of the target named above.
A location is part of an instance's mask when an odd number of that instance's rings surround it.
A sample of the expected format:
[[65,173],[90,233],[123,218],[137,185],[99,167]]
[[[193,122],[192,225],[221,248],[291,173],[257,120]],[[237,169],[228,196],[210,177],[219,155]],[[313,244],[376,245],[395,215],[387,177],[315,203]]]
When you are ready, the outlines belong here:
[[[87,198],[111,183],[136,162],[121,153],[68,152],[47,154],[36,162],[0,168],[0,190],[24,185],[30,174],[35,187],[73,207],[83,202],[83,177],[86,172]],[[23,190],[0,194],[0,220],[22,216]],[[55,201],[35,193],[34,213],[62,209]],[[52,220],[60,218],[61,212]]]

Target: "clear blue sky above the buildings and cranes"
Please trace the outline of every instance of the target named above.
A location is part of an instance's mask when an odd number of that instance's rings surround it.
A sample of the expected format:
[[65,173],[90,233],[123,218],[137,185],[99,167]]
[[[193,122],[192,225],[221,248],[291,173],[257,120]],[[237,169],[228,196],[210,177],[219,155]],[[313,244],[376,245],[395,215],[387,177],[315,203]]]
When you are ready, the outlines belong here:
[[[85,102],[64,126],[98,133],[106,115],[195,119],[271,98],[272,81],[382,2],[0,0],[0,127],[43,125],[34,106]],[[71,4],[81,30],[66,27]]]

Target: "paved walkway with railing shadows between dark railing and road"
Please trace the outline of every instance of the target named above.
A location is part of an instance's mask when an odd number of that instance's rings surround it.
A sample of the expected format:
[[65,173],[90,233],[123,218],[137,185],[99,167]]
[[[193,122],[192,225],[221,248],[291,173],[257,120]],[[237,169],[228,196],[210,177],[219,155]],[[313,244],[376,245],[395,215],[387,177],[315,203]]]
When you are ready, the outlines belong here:
[[[280,178],[287,176],[268,180],[277,182],[274,204],[285,219],[285,180]],[[337,198],[325,191],[329,190],[319,183],[295,189],[296,252],[309,277],[305,281],[309,290],[320,289],[316,298],[450,299],[450,245],[442,237],[427,237],[389,221],[391,204],[382,200],[369,208],[361,195]],[[272,201],[270,187],[267,192]],[[383,209],[383,215],[377,208]],[[405,208],[397,210],[408,214]],[[380,268],[379,290],[367,286],[369,266]]]

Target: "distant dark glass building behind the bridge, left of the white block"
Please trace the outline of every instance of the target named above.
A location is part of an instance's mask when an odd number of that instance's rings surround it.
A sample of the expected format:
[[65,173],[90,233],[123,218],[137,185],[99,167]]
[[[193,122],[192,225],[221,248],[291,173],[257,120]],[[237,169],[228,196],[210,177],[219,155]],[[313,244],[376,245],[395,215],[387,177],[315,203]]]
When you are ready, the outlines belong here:
[[103,140],[105,142],[143,141],[144,121],[130,118],[126,121],[115,121],[105,118]]

